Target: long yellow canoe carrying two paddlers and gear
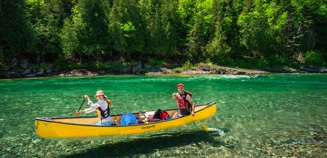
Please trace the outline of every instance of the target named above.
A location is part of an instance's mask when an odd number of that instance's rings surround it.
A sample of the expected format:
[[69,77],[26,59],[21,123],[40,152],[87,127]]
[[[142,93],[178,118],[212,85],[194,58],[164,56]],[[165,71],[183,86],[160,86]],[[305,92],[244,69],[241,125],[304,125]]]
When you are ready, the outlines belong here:
[[[216,114],[216,102],[209,102],[195,107],[195,116],[184,116],[177,119],[164,120],[152,123],[101,126],[95,125],[100,121],[98,117],[37,117],[35,118],[35,131],[43,138],[70,138],[70,137],[99,137],[115,135],[131,135],[146,133],[155,130],[161,130],[171,127],[177,127],[186,123],[205,119]],[[177,111],[165,110],[170,116]],[[134,116],[144,114],[145,112],[133,113]],[[111,116],[112,120],[118,120],[122,115]],[[196,119],[197,118],[197,119]]]

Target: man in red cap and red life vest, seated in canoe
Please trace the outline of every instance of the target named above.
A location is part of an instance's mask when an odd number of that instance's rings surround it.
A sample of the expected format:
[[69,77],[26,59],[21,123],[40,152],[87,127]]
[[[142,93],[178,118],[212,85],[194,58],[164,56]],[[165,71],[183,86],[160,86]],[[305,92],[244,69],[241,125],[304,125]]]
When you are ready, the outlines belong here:
[[176,99],[178,106],[178,111],[173,115],[174,118],[179,118],[186,115],[194,116],[194,102],[191,98],[192,94],[184,90],[183,84],[178,84],[177,86],[179,93],[174,93],[173,98]]

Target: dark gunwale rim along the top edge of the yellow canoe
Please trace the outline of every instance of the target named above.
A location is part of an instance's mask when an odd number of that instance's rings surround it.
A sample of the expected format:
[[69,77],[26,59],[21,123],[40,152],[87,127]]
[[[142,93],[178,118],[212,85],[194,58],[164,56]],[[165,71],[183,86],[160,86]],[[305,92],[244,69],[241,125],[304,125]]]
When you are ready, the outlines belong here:
[[[200,106],[206,106],[198,111],[196,111],[195,113],[198,113],[200,111],[203,111],[213,105],[216,104],[216,101],[212,101],[212,102],[208,102],[208,103],[205,103],[205,104],[200,104],[196,107],[200,107]],[[165,110],[165,111],[172,111],[172,110],[177,110],[177,109],[168,109],[168,110]],[[142,114],[142,113],[146,113],[146,112],[136,112],[136,113],[132,113],[133,115],[134,114]],[[123,114],[118,114],[118,115],[115,115],[115,116],[121,116]],[[113,116],[113,115],[111,115]],[[177,120],[177,119],[181,119],[181,118],[184,118],[184,117],[188,117],[190,115],[186,115],[186,116],[182,116],[182,117],[179,117],[179,118],[176,118],[176,119],[170,119],[170,120],[163,120],[163,121],[157,121],[157,122],[151,122],[151,123],[142,123],[142,124],[131,124],[131,125],[119,125],[119,126],[102,126],[102,125],[91,125],[91,124],[79,124],[79,123],[68,123],[68,122],[61,122],[61,121],[55,121],[53,119],[76,119],[76,118],[97,118],[97,116],[83,116],[83,117],[37,117],[35,118],[36,121],[45,121],[45,122],[53,122],[53,123],[61,123],[61,124],[69,124],[69,125],[78,125],[78,126],[96,126],[96,127],[123,127],[123,126],[139,126],[139,125],[145,125],[145,124],[156,124],[156,123],[162,123],[162,122],[166,122],[166,121],[172,121],[172,120]]]

